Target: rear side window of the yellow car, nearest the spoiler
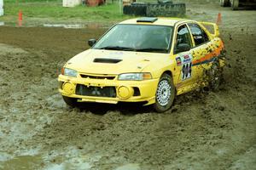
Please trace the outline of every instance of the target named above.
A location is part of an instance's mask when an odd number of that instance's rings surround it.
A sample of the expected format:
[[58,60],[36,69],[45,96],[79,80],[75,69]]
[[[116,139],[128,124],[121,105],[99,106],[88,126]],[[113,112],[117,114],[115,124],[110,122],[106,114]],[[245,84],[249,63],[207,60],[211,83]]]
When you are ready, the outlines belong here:
[[189,24],[189,29],[195,41],[195,46],[199,46],[204,42],[209,41],[207,33],[201,29],[197,24]]

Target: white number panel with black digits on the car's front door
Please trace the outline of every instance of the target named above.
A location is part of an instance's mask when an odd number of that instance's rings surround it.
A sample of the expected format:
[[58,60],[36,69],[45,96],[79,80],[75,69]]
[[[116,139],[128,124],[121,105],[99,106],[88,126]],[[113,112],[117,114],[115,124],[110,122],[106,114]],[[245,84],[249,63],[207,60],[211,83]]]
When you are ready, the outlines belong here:
[[185,54],[176,58],[177,66],[181,66],[181,79],[186,80],[192,76],[192,55]]

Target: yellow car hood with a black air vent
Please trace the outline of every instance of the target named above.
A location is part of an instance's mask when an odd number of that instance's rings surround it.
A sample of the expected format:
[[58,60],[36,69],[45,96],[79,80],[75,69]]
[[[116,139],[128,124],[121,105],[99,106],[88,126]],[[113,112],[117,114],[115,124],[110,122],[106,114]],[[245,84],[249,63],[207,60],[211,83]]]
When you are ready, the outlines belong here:
[[121,74],[145,71],[168,54],[89,49],[67,61],[65,67],[91,74]]

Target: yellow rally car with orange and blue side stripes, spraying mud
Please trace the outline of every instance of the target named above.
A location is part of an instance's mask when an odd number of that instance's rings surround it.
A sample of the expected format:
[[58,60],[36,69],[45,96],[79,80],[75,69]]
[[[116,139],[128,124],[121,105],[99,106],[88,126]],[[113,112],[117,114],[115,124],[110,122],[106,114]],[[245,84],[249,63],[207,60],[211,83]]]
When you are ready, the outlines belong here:
[[[213,32],[206,27],[211,26]],[[110,28],[63,66],[59,91],[77,102],[144,102],[168,110],[176,95],[218,88],[224,43],[218,26],[194,20],[138,18]]]

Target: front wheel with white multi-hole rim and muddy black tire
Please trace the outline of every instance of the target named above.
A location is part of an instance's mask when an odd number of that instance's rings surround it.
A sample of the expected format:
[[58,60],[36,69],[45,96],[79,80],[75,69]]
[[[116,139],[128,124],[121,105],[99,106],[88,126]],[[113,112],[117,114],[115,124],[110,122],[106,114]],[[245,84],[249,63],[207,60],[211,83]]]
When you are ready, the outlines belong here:
[[154,110],[157,112],[164,112],[170,109],[175,95],[176,89],[173,84],[172,77],[164,73],[160,77],[160,81],[155,93]]

